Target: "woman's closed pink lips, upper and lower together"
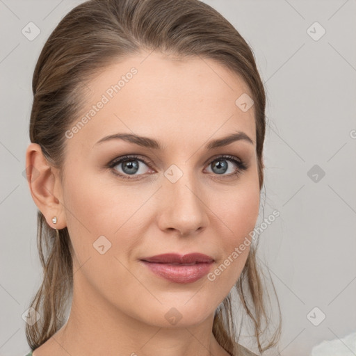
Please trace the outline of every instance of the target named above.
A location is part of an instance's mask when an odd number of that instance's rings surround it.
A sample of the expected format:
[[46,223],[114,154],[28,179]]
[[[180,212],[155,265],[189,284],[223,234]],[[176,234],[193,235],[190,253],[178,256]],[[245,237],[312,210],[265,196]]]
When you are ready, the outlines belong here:
[[206,254],[159,254],[141,259],[153,273],[170,282],[193,283],[209,273],[213,258]]

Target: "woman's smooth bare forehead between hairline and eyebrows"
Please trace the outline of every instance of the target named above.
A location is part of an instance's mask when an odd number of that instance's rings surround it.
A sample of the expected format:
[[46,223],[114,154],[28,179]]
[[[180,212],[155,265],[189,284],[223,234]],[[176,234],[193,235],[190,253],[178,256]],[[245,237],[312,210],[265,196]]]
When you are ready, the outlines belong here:
[[241,95],[252,97],[250,89],[215,60],[142,52],[104,68],[86,88],[76,120],[86,123],[72,143],[125,132],[193,144],[236,130],[255,141],[254,106],[236,105]]

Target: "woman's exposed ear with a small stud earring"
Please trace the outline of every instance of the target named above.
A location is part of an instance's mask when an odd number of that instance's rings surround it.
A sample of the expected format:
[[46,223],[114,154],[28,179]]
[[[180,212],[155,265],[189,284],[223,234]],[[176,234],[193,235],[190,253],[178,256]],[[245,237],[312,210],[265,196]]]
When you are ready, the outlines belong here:
[[[42,153],[40,145],[31,143],[26,149],[26,176],[33,201],[44,215],[47,224],[56,229],[66,227],[62,182]],[[57,223],[52,218],[57,217]]]

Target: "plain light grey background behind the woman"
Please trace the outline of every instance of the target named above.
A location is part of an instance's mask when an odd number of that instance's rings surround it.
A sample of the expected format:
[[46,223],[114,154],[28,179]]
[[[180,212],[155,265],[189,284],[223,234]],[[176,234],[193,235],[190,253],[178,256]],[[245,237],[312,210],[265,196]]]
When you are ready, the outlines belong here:
[[[81,2],[0,0],[0,355],[29,350],[22,314],[42,275],[24,178],[32,74],[51,31]],[[204,2],[247,40],[265,82],[262,204],[265,217],[280,217],[261,234],[259,256],[280,299],[280,354],[309,355],[356,331],[356,2]],[[40,29],[31,40],[29,22]]]

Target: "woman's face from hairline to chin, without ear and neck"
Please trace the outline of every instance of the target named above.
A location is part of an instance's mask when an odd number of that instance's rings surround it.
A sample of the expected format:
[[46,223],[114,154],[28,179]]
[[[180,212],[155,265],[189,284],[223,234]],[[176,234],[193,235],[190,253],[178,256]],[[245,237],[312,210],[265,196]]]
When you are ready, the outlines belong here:
[[[259,213],[250,90],[213,60],[156,52],[107,67],[87,89],[60,192],[75,293],[150,325],[201,323],[238,280]],[[130,136],[105,139],[118,134]],[[196,266],[172,266],[167,279],[141,261],[193,252],[213,259],[195,280],[177,270]]]

